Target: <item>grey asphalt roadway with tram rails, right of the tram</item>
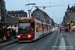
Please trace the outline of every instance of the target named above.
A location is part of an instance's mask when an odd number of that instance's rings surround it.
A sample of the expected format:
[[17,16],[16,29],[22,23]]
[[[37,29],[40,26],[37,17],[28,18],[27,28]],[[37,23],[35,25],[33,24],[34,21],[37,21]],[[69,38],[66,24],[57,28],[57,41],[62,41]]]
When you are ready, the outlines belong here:
[[30,43],[13,43],[1,48],[1,50],[59,50],[59,47],[54,47],[60,45],[59,35],[59,30],[55,30],[53,33],[50,33],[37,41]]

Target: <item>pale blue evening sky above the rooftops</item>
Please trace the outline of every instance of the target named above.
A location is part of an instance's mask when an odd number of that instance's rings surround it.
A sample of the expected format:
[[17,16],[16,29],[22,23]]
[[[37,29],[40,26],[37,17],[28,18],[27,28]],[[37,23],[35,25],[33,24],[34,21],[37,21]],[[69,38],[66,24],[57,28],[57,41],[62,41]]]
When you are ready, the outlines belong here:
[[[63,20],[65,12],[68,5],[70,7],[74,6],[75,0],[4,0],[7,11],[24,10],[28,13],[28,10],[32,8],[33,5],[25,6],[29,3],[35,3],[35,6],[47,6],[45,9],[39,8],[46,12],[50,18],[54,20],[55,23],[60,24]],[[48,7],[51,6],[51,7]],[[31,12],[36,8],[33,7]]]

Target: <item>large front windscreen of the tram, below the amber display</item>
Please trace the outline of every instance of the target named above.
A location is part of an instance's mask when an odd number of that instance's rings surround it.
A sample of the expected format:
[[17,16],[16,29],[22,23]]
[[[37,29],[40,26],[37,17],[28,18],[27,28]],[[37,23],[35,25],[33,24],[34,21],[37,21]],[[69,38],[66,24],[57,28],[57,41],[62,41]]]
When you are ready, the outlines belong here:
[[19,23],[19,33],[20,34],[30,33],[30,23]]

